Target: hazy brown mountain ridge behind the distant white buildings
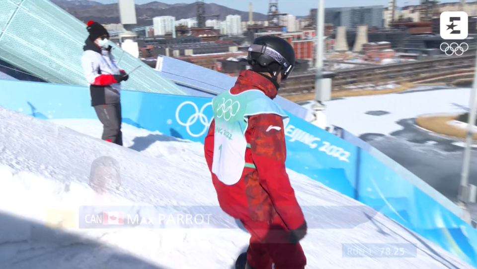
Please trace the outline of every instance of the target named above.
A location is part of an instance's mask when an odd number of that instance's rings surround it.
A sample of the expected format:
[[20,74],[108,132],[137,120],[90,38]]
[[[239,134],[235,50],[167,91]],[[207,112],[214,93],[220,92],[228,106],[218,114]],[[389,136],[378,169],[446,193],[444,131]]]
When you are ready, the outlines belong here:
[[[87,22],[94,20],[102,24],[120,23],[118,4],[102,4],[91,0],[51,0],[79,20]],[[244,1],[245,3],[245,1]],[[219,20],[225,20],[228,15],[240,15],[242,21],[248,21],[248,12],[232,9],[227,6],[205,3],[206,15],[219,14]],[[193,18],[196,16],[195,3],[166,4],[159,1],[136,5],[138,26],[153,24],[153,18],[158,16],[174,16],[176,20]],[[215,19],[215,18],[207,18]],[[267,15],[253,12],[253,20],[266,20]]]

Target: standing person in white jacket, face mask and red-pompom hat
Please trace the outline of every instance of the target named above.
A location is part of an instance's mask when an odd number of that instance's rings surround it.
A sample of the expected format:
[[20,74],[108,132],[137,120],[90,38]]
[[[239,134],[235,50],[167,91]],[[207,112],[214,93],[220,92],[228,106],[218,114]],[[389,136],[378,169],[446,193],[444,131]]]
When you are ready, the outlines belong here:
[[91,106],[103,124],[102,139],[122,146],[121,81],[129,77],[116,65],[106,28],[89,21],[86,29],[89,36],[81,62],[86,81],[90,84]]

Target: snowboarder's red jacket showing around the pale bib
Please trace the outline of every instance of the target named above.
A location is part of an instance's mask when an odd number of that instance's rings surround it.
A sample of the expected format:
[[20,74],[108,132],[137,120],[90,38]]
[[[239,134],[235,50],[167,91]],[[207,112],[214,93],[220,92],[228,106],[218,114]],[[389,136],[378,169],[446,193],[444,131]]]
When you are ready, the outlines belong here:
[[[264,76],[250,70],[241,71],[231,94],[257,89],[269,98],[277,96],[275,85]],[[278,126],[280,132],[267,132],[269,126]],[[204,142],[205,159],[212,174],[221,208],[242,221],[270,221],[280,217],[286,228],[303,227],[305,218],[285,168],[286,145],[283,119],[277,114],[258,114],[248,118],[245,139],[250,148],[245,151],[245,162],[256,169],[243,168],[239,182],[226,185],[212,172],[214,159],[215,121]]]

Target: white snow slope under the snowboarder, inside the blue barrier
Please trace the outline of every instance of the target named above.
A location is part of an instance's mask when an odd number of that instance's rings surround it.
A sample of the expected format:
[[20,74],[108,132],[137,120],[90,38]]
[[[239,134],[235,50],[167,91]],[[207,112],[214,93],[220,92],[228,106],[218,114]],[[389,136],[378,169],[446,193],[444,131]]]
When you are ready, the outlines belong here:
[[[56,123],[0,107],[2,269],[232,268],[235,258],[246,248],[249,235],[230,219],[192,228],[45,228],[45,210],[51,208],[74,209],[98,203],[136,207],[218,205],[201,144],[124,124],[125,147],[119,147],[87,135],[99,137],[101,126],[95,120]],[[122,185],[98,202],[87,185],[88,175],[91,162],[105,155],[119,161]],[[374,215],[371,209],[306,176],[288,172],[311,227],[302,243],[308,268],[472,268],[393,220]],[[335,214],[324,214],[330,208],[336,210]],[[343,209],[346,212],[339,211]],[[140,215],[151,214],[147,210],[141,207]],[[374,217],[368,220],[365,214]],[[343,228],[356,219],[366,220]],[[417,256],[346,258],[344,243],[383,243],[391,249],[397,243],[415,244]]]

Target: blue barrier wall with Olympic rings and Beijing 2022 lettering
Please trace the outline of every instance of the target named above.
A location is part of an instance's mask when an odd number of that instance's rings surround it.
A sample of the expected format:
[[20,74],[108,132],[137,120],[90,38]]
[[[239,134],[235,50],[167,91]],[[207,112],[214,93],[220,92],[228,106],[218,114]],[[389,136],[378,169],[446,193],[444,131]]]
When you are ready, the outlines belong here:
[[[0,105],[41,119],[96,118],[79,86],[0,80]],[[123,121],[203,142],[210,98],[123,91]],[[477,267],[477,230],[368,152],[290,114],[288,168],[379,210]]]

